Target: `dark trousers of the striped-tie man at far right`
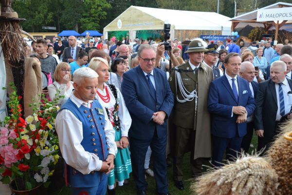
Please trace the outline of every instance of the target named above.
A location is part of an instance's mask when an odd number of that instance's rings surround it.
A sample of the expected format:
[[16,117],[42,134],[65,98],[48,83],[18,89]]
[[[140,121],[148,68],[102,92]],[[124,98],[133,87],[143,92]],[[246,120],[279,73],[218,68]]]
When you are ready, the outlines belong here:
[[275,140],[275,137],[281,132],[280,126],[282,124],[283,122],[276,121],[276,126],[275,126],[273,136],[264,135],[264,137],[257,138],[258,140],[257,151],[263,150],[260,156],[264,156],[267,150],[271,147],[271,144]]

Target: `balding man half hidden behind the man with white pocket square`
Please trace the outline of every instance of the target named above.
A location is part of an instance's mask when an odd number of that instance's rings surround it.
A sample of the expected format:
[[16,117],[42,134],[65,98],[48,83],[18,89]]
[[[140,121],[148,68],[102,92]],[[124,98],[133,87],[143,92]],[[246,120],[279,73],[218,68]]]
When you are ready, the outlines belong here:
[[[249,62],[249,61],[244,61],[241,63],[241,68],[239,72],[239,76],[241,78],[244,78],[247,80],[249,87],[252,92],[253,98],[256,98],[256,92],[258,89],[258,83],[254,81],[255,78],[255,66]],[[255,121],[254,121],[254,115],[251,115],[250,117],[247,117],[246,119],[246,126],[247,126],[247,133],[243,137],[242,142],[241,142],[241,148],[245,153],[248,152],[249,147],[251,145],[253,133],[254,133],[254,128],[255,128]]]

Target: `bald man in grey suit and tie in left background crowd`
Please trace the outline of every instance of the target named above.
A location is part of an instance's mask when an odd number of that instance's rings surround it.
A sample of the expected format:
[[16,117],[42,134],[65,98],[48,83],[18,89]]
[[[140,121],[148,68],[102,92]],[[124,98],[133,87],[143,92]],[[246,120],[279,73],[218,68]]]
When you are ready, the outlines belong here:
[[80,50],[85,51],[76,45],[76,38],[74,36],[70,36],[69,47],[66,47],[63,52],[63,61],[68,63],[75,61],[78,58]]

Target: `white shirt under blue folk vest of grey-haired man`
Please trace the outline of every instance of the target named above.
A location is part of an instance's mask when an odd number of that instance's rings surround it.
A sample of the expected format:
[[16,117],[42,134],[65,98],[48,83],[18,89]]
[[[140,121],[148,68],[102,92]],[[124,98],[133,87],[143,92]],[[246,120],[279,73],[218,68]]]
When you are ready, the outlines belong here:
[[[72,93],[70,98],[79,108],[81,105],[88,108],[91,107],[91,102],[88,103],[76,98]],[[116,155],[117,145],[114,141],[115,131],[105,113],[105,134],[108,137],[109,154]],[[102,166],[102,160],[93,153],[87,152],[81,145],[83,140],[82,123],[76,118],[70,110],[61,110],[55,119],[55,128],[59,138],[60,150],[65,162],[78,170],[82,174],[89,174],[91,171],[99,171]],[[106,158],[107,156],[105,156]]]

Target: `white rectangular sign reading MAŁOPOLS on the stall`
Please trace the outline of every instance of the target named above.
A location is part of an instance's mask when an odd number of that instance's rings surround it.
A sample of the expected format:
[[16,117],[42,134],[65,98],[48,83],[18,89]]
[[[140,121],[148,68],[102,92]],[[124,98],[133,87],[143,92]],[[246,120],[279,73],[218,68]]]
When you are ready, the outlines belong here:
[[256,21],[292,20],[292,7],[259,9]]

